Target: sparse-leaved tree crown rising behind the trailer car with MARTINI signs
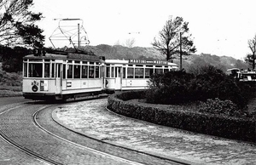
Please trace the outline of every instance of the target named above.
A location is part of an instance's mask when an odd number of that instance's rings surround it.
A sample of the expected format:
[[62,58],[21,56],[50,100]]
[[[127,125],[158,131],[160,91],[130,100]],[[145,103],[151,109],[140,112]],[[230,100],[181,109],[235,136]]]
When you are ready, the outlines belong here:
[[184,22],[182,17],[170,17],[159,32],[159,38],[154,37],[152,45],[166,55],[166,60],[172,60],[174,54],[180,53],[180,44],[184,55],[195,53],[196,49],[189,34],[189,23]]

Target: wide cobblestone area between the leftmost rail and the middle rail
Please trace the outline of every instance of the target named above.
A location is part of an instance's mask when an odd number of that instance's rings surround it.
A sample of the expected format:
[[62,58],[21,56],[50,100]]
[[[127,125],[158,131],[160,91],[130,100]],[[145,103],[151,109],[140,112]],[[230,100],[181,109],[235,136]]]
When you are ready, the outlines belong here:
[[[32,113],[40,107],[42,105],[27,105],[3,113],[0,118],[1,131],[16,144],[61,164],[131,164],[116,160],[112,156],[86,150],[83,146],[73,145],[40,131],[32,123]],[[3,161],[8,160],[5,156],[9,157],[9,155],[3,155]],[[22,159],[25,158],[22,156]],[[36,164],[34,160],[25,161],[17,158],[13,160],[16,164]]]

